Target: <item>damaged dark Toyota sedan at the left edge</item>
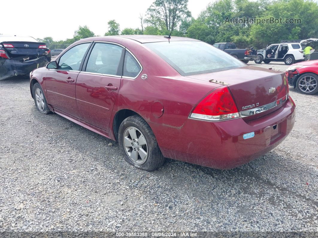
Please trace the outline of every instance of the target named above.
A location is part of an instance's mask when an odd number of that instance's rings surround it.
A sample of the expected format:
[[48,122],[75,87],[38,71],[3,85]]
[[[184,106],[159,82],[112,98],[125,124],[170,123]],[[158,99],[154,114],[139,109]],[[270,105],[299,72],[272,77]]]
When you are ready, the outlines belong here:
[[30,36],[0,36],[0,80],[17,75],[29,75],[45,66],[47,60],[45,43]]

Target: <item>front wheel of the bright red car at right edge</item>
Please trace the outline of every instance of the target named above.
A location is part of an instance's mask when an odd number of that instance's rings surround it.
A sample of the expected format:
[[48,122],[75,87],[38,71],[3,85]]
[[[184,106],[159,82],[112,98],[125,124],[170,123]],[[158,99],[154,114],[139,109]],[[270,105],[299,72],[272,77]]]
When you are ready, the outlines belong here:
[[[308,85],[307,83],[311,84]],[[308,86],[308,87],[307,87]],[[297,91],[306,94],[313,95],[318,92],[318,75],[314,73],[305,73],[298,77],[296,81]]]

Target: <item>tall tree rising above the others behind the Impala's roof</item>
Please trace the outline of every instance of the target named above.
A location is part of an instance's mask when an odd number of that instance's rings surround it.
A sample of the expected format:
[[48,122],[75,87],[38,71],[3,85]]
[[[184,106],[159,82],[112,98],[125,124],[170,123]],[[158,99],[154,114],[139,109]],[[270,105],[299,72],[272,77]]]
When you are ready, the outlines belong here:
[[145,22],[162,30],[174,31],[178,24],[190,17],[188,0],[155,0],[147,10]]

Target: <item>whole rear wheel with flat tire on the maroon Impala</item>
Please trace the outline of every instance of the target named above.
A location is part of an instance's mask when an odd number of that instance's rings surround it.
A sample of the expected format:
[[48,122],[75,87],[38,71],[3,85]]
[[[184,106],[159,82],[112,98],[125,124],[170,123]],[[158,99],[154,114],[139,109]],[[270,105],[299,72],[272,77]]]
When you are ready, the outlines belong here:
[[139,115],[123,120],[119,126],[118,143],[124,159],[136,168],[150,172],[165,161],[153,131]]

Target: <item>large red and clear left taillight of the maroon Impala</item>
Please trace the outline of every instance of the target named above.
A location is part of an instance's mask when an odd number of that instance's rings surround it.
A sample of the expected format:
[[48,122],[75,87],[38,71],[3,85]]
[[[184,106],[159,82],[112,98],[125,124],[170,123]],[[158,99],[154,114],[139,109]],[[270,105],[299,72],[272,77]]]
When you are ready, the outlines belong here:
[[205,97],[192,111],[190,118],[219,121],[238,118],[237,109],[228,87],[218,87]]

